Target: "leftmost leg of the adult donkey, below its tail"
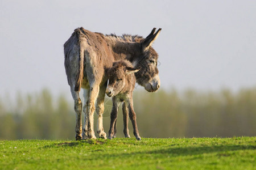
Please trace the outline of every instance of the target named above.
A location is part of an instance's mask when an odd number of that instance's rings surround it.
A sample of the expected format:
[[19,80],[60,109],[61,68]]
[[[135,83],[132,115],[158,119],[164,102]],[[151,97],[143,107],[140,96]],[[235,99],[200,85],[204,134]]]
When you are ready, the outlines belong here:
[[71,88],[71,94],[75,101],[75,112],[76,112],[76,141],[82,139],[82,101],[79,97],[79,91],[75,91],[74,88]]

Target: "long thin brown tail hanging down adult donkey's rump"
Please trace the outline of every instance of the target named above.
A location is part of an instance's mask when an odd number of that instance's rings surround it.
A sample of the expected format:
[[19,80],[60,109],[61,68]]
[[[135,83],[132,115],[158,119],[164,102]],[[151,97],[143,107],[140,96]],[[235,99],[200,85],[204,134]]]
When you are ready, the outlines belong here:
[[80,91],[82,86],[82,79],[84,78],[84,49],[82,49],[81,44],[79,48],[79,71],[76,76],[75,91]]

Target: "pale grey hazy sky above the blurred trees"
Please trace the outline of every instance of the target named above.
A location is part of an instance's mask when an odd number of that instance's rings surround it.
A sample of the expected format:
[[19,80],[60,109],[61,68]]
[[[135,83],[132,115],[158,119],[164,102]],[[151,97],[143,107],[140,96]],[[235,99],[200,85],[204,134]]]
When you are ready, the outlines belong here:
[[77,27],[144,37],[162,28],[153,47],[165,89],[256,86],[256,1],[2,0],[0,14],[0,96],[69,93],[63,44]]

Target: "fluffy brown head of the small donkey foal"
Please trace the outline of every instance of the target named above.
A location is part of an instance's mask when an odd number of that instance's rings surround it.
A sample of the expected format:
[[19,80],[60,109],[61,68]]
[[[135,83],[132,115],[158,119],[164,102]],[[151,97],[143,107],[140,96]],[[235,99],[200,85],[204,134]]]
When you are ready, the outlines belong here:
[[[136,73],[138,69],[134,69],[133,65],[127,60],[113,62],[113,67],[107,71],[109,84],[106,88],[106,95],[109,97],[119,94],[126,86],[134,86],[135,78],[132,80],[130,74]],[[134,84],[133,82],[134,81]]]

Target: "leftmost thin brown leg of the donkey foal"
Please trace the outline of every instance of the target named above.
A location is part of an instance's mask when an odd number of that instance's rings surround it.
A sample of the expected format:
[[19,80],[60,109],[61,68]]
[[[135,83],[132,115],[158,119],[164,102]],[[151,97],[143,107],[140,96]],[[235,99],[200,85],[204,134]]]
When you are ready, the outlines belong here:
[[109,128],[109,137],[108,139],[112,139],[114,135],[114,126],[115,122],[117,121],[117,112],[118,112],[118,107],[119,107],[119,101],[113,97],[113,107],[112,107],[112,112],[110,114],[110,128]]

